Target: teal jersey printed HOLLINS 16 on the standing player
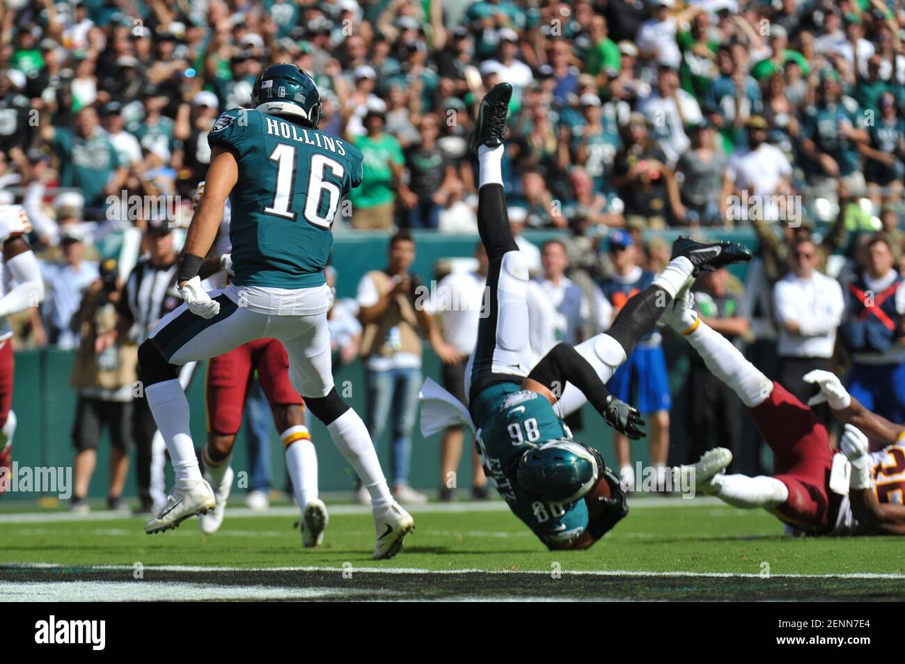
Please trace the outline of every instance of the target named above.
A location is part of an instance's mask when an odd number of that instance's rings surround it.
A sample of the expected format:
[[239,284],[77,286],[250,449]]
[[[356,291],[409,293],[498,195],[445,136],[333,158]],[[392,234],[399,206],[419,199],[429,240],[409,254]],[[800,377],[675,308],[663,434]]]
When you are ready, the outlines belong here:
[[358,148],[251,109],[224,112],[207,141],[239,162],[230,194],[233,283],[281,289],[325,283],[333,217],[361,183]]

